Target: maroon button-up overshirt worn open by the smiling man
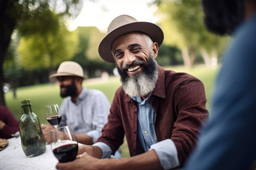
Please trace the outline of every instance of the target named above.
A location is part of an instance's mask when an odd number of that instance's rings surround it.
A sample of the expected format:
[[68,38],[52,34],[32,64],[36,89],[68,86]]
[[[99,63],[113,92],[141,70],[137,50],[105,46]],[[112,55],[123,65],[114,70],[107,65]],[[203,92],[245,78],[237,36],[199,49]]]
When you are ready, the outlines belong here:
[[[178,153],[180,166],[194,149],[198,132],[208,116],[203,83],[186,73],[165,71],[159,66],[159,77],[150,103],[155,110],[157,141],[171,139]],[[137,155],[137,107],[120,87],[110,108],[108,123],[97,142],[110,146],[113,153],[123,144],[126,135],[130,155]],[[168,147],[168,146],[166,146]]]

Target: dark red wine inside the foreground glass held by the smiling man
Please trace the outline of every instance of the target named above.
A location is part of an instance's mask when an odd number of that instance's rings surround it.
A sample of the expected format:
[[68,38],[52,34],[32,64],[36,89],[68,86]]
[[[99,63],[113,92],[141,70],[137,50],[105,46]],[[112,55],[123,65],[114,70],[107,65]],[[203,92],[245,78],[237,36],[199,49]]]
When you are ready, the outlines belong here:
[[74,161],[78,152],[78,144],[75,141],[61,141],[61,144],[53,148],[52,152],[60,162]]

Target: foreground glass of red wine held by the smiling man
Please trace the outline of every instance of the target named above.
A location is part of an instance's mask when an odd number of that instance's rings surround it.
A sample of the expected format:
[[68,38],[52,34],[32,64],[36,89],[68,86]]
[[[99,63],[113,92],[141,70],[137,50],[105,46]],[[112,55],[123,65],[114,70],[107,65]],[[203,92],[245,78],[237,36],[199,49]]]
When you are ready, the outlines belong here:
[[76,159],[78,142],[71,126],[51,130],[51,147],[59,162],[69,162]]

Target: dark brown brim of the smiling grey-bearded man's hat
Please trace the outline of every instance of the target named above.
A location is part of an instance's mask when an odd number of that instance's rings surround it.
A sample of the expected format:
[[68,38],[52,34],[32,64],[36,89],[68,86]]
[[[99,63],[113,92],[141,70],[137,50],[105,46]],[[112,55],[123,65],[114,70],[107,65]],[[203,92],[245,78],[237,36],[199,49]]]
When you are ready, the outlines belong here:
[[146,33],[153,42],[157,42],[158,46],[160,46],[164,40],[164,33],[156,24],[150,22],[132,22],[118,27],[103,38],[98,49],[101,58],[106,62],[115,63],[114,57],[111,53],[112,42],[119,36],[134,31]]

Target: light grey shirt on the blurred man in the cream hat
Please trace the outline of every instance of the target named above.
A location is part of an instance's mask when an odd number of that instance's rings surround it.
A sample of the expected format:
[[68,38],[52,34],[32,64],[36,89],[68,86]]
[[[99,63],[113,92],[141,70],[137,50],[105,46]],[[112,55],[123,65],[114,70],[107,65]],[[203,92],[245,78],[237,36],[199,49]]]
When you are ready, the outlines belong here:
[[70,125],[75,133],[87,133],[95,143],[101,136],[109,113],[110,103],[103,92],[83,88],[76,103],[70,96],[63,100],[59,127]]

